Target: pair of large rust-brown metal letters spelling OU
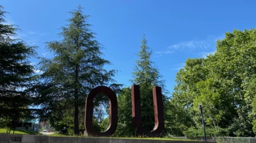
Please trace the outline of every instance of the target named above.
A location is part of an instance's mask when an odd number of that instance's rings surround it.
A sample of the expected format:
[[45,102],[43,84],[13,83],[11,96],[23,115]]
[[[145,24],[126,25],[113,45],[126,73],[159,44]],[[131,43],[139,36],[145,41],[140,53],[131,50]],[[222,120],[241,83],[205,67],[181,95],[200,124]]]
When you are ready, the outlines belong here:
[[[93,128],[93,99],[97,94],[105,94],[110,99],[110,123],[105,132],[98,132]],[[142,127],[142,117],[140,109],[140,87],[133,85],[131,88],[132,99],[132,121],[133,127],[139,135],[149,137],[158,137],[164,130],[164,115],[163,115],[163,99],[161,87],[153,88],[154,115],[155,126],[151,131],[145,130]],[[92,136],[111,136],[117,128],[117,97],[113,90],[108,87],[99,86],[90,91],[86,98],[86,112],[84,127],[88,135]]]

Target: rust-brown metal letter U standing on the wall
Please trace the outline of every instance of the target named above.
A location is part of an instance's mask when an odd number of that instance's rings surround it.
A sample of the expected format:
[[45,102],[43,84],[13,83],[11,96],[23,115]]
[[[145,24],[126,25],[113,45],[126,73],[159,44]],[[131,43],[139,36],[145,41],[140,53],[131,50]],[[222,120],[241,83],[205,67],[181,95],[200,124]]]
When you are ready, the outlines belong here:
[[139,135],[145,135],[149,137],[158,137],[164,130],[164,114],[163,114],[163,98],[161,93],[161,87],[153,88],[153,100],[154,100],[154,115],[155,126],[151,131],[145,130],[142,127],[142,116],[140,109],[140,86],[133,85],[131,87],[131,100],[132,100],[132,121],[133,128]]

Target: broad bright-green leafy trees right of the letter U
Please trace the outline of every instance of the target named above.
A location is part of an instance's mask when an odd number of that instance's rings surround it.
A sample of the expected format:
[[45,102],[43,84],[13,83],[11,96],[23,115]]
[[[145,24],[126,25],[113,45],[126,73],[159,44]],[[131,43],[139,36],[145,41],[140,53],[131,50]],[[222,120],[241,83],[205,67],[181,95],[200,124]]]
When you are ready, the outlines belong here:
[[256,29],[226,32],[214,55],[187,59],[178,71],[172,100],[183,106],[193,127],[201,127],[202,103],[207,127],[229,129],[231,136],[254,136],[255,37]]

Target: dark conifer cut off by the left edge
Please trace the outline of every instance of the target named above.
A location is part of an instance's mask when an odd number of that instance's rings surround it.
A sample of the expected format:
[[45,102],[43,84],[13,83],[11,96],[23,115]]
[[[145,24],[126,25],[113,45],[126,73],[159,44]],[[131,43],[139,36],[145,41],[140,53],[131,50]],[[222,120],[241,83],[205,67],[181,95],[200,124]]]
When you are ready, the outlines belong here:
[[15,127],[17,121],[30,113],[32,97],[28,88],[34,79],[34,67],[28,58],[36,56],[36,47],[13,38],[17,28],[6,24],[5,13],[0,5],[0,124]]

